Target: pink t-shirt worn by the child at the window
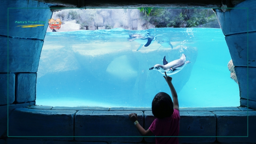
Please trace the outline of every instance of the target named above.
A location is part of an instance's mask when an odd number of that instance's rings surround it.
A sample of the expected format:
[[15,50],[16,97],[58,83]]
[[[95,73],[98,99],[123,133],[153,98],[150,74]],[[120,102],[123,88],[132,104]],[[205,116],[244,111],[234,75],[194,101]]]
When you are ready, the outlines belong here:
[[[156,118],[148,128],[156,136],[178,136],[180,132],[180,112],[173,109],[172,116]],[[156,144],[179,144],[178,137],[156,137]]]

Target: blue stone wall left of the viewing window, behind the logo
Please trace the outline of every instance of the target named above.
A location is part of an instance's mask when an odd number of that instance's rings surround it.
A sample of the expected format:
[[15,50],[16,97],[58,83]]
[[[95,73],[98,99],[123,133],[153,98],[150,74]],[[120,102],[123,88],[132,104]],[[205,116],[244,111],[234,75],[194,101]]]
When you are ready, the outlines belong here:
[[[0,139],[7,136],[7,116],[13,109],[35,105],[36,72],[48,27],[40,22],[52,17],[50,6],[37,1],[0,2]],[[29,24],[43,26],[17,27]]]

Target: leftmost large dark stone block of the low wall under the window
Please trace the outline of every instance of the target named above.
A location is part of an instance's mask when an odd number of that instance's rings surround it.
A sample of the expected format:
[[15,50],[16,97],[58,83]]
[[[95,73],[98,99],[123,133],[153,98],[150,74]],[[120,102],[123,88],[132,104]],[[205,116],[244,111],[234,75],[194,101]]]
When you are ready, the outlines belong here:
[[34,136],[28,139],[39,139],[36,136],[43,136],[40,139],[73,140],[75,113],[75,110],[14,109],[9,117],[9,136]]

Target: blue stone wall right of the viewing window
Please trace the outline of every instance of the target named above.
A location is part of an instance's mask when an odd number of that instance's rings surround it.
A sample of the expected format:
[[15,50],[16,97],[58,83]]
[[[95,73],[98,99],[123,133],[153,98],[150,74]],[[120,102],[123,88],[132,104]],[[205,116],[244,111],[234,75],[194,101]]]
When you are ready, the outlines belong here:
[[234,9],[222,12],[216,9],[220,27],[226,36],[240,90],[242,106],[256,108],[256,1],[246,0]]

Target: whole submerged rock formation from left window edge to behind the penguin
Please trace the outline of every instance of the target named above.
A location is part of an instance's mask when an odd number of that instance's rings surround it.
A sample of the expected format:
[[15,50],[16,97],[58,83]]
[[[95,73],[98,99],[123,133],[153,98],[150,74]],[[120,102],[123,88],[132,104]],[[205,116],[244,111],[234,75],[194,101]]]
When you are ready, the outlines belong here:
[[191,63],[172,75],[172,83],[179,93],[189,80],[198,53],[196,47],[185,45],[173,49],[157,48],[141,51],[130,48],[90,50],[90,47],[73,46],[42,50],[37,77],[42,78],[37,80],[37,86],[49,87],[50,92],[56,94],[82,95],[88,99],[107,98],[113,103],[120,100],[143,101],[148,106],[156,93],[170,92],[164,75],[149,68],[163,64],[164,56],[173,61],[184,53]]

